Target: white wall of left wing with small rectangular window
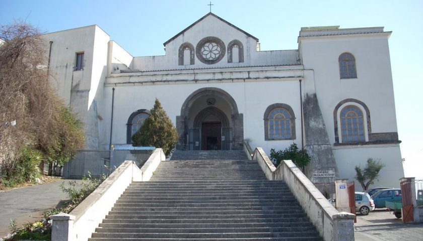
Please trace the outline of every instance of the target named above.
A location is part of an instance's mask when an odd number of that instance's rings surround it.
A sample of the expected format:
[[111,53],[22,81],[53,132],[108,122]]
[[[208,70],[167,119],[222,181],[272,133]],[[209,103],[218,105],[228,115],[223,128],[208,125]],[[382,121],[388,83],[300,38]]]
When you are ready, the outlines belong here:
[[[85,123],[86,148],[97,149],[110,38],[96,25],[45,34],[44,38],[47,55],[49,41],[53,41],[50,81],[65,104]],[[78,52],[84,52],[84,68],[75,71]]]

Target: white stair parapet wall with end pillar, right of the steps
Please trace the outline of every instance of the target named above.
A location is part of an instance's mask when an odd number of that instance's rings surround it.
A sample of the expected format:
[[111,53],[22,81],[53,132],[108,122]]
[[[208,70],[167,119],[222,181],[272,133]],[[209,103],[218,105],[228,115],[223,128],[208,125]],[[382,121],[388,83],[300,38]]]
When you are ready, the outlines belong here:
[[268,180],[281,180],[287,184],[323,240],[355,240],[356,215],[338,212],[291,160],[282,161],[276,168],[259,147],[254,150],[253,160],[258,162]]

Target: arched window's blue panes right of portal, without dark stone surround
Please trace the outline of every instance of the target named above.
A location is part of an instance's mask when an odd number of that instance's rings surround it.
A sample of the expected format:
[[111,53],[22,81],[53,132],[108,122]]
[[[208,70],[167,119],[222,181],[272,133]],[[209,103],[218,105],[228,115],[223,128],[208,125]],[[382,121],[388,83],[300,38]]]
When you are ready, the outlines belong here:
[[291,139],[291,114],[284,108],[274,108],[268,115],[270,140]]

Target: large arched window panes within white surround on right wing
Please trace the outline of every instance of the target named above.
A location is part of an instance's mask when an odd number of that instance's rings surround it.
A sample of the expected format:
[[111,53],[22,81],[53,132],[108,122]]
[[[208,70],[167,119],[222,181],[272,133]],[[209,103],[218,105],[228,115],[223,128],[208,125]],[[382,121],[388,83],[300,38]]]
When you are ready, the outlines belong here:
[[347,105],[340,112],[341,138],[343,143],[364,142],[363,111],[355,105]]

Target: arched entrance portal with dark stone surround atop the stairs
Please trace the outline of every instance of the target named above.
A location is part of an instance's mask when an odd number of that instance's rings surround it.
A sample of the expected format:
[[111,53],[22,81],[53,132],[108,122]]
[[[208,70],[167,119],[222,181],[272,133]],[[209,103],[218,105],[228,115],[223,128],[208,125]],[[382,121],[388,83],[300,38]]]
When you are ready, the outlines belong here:
[[243,115],[235,100],[219,88],[190,94],[176,117],[178,150],[240,150]]

